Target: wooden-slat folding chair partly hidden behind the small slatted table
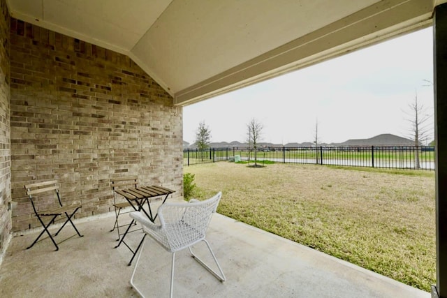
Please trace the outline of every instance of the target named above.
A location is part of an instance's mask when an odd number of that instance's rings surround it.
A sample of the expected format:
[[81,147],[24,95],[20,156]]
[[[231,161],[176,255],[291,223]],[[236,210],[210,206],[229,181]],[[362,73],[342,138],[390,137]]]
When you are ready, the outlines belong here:
[[[124,187],[129,187],[129,186],[134,186],[136,188],[138,186],[138,177],[129,176],[129,177],[112,178],[112,179],[110,179],[110,186],[112,187],[113,207],[115,208],[115,223],[113,225],[112,230],[110,230],[110,232],[113,232],[115,229],[117,229],[117,232],[118,232],[117,241],[119,241],[120,237],[124,234],[124,233],[119,232],[119,228],[127,227],[129,225],[129,223],[119,225],[119,220],[118,220],[119,216],[122,214],[127,214],[130,212],[133,212],[135,210],[132,209],[131,211],[122,212],[122,209],[127,208],[127,207],[132,207],[132,205],[127,200],[119,202],[119,200],[117,200],[117,193],[115,191],[119,188],[124,188]],[[134,231],[130,231],[130,232],[134,232]]]

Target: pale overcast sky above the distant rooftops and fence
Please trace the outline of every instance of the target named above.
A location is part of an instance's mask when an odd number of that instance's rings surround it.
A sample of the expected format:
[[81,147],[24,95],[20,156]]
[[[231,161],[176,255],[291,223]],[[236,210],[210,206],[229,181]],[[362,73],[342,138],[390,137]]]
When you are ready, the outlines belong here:
[[[410,137],[409,104],[433,114],[432,28],[394,38],[183,109],[183,139],[192,144],[200,121],[212,142],[244,142],[260,121],[263,142],[320,142],[393,133]],[[433,120],[430,120],[433,126]],[[431,131],[432,133],[432,131]],[[432,139],[432,136],[430,136]]]

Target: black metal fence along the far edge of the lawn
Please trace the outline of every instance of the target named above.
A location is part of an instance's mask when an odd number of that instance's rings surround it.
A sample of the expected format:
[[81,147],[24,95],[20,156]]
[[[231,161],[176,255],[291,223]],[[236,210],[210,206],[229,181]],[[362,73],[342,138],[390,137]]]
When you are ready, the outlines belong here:
[[434,170],[432,146],[367,146],[367,147],[268,147],[263,149],[210,148],[185,149],[184,165],[214,163],[240,158],[241,161],[306,163],[388,169]]

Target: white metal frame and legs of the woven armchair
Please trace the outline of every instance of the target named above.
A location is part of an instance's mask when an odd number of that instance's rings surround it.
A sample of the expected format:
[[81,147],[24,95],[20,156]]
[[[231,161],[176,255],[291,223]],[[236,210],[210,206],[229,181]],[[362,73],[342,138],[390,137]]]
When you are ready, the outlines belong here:
[[[156,225],[154,223],[152,223],[151,221],[149,221],[149,218],[147,218],[144,214],[142,214],[141,212],[132,212],[130,214],[131,218],[135,219],[135,221],[137,221],[138,223],[140,223],[142,225],[142,229],[145,232],[145,236],[146,234],[149,235],[152,239],[154,239],[160,246],[162,246],[163,248],[165,248],[166,251],[172,253],[172,264],[171,264],[171,273],[170,273],[170,297],[173,297],[173,289],[174,289],[174,269],[175,269],[175,253],[177,251],[182,251],[185,248],[189,248],[189,253],[191,253],[191,256],[194,260],[196,260],[200,265],[202,265],[203,267],[205,267],[205,269],[207,269],[208,271],[210,271],[210,273],[217,278],[219,281],[223,282],[226,281],[226,277],[225,274],[223,274],[222,268],[219,265],[219,262],[217,261],[216,255],[214,255],[214,252],[212,251],[212,248],[210,246],[210,243],[205,239],[206,237],[206,230],[208,228],[208,225],[210,224],[211,221],[211,217],[212,214],[217,210],[217,205],[219,204],[219,201],[221,199],[221,192],[217,193],[217,195],[214,195],[214,197],[205,200],[205,201],[198,201],[198,200],[191,200],[190,202],[179,202],[179,203],[171,203],[171,202],[167,202],[166,204],[162,204],[159,209],[158,209],[158,215],[159,215],[159,220],[160,220],[160,225]],[[203,232],[203,235],[201,235],[200,237],[197,237],[197,239],[193,239],[190,243],[188,244],[184,244],[183,246],[176,246],[175,244],[173,246],[171,246],[171,243],[169,241],[169,236],[167,236],[167,238],[165,240],[168,241],[168,244],[166,244],[166,242],[164,240],[161,240],[159,238],[159,236],[164,236],[169,234],[168,230],[166,229],[166,223],[165,223],[165,218],[163,216],[163,211],[165,209],[170,209],[171,207],[184,207],[185,211],[184,211],[184,216],[186,216],[186,210],[189,208],[194,208],[194,207],[203,207],[203,206],[207,206],[207,205],[211,205],[212,206],[212,212],[211,214],[208,215],[208,218],[206,218],[207,223],[205,225],[205,232]],[[186,221],[183,222],[184,217],[182,217],[179,221],[182,222],[182,225],[186,225],[188,226],[188,223],[186,223]],[[191,225],[188,226],[188,228],[191,228]],[[140,257],[141,257],[141,253],[142,250],[144,248],[145,245],[145,241],[147,240],[147,237],[145,237],[143,239],[143,244],[140,248],[140,253],[138,254],[138,258],[137,258],[137,262],[135,264],[135,268],[133,269],[133,273],[131,276],[131,285],[133,286],[133,288],[138,292],[138,294],[140,294],[142,297],[144,297],[144,295],[142,294],[142,292],[135,286],[135,283],[133,283],[133,278],[135,276],[135,271],[138,267],[138,263],[140,262]],[[214,259],[214,262],[217,265],[217,268],[219,269],[219,273],[217,271],[214,271],[209,265],[205,264],[205,262],[203,262],[203,260],[201,260],[200,258],[198,258],[198,256],[196,254],[193,253],[192,251],[192,246],[194,244],[198,244],[200,241],[204,241],[205,244],[207,245],[208,250],[210,251],[212,258]]]

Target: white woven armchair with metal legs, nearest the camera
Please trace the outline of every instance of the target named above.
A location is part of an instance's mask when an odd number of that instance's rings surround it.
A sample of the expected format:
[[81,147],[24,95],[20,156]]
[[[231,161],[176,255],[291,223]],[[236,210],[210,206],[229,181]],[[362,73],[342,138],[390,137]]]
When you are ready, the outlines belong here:
[[[192,257],[199,262],[200,265],[205,267],[205,269],[210,271],[210,273],[219,279],[219,281],[226,280],[210,244],[205,240],[206,230],[210,224],[212,214],[216,211],[217,205],[221,200],[221,195],[222,193],[219,192],[217,195],[214,195],[214,197],[202,202],[198,200],[179,203],[166,202],[158,209],[160,225],[156,225],[149,221],[147,216],[141,212],[132,212],[130,214],[131,218],[135,219],[135,221],[142,225],[142,230],[147,235],[163,246],[166,251],[173,254],[170,274],[170,297],[173,297],[175,253],[184,248],[189,248],[189,252],[191,253]],[[146,239],[147,237],[145,237],[145,241]],[[191,250],[191,246],[200,241],[204,241],[205,244],[207,244],[212,258],[214,258],[214,261],[219,268],[220,274],[211,269],[196,255],[194,255],[193,251]],[[133,283],[133,276],[135,276],[138,262],[140,262],[143,247],[144,243],[140,248],[140,253],[131,277],[131,285],[142,297],[144,297],[144,295],[142,295],[142,292],[140,292],[140,290],[138,290]]]

